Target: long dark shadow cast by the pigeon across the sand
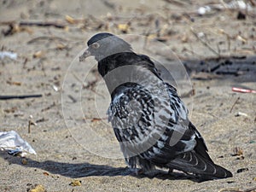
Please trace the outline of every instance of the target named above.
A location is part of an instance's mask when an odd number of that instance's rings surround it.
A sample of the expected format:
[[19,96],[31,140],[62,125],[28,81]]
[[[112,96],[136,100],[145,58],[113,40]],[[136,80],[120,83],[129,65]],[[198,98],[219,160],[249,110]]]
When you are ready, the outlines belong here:
[[[131,176],[137,178],[159,178],[161,180],[192,180],[194,182],[200,183],[201,180],[197,177],[189,176],[181,172],[157,172],[152,175],[146,174],[136,174],[134,171],[131,171],[128,167],[113,167],[113,166],[102,166],[94,165],[90,163],[63,163],[53,160],[38,161],[32,160],[30,158],[22,158],[19,156],[12,156],[7,154],[4,151],[0,152],[0,157],[3,160],[9,162],[9,164],[16,164],[24,167],[33,167],[35,172],[37,169],[44,170],[45,172],[50,172],[51,174],[59,174],[64,177],[78,178],[78,177],[93,177],[93,176]],[[22,163],[22,159],[26,160],[26,163]]]

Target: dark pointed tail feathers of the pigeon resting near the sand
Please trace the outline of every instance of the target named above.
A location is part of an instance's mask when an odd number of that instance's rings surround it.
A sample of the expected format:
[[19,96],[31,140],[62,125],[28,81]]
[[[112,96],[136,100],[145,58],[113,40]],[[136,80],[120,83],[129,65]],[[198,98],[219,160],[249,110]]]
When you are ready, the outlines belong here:
[[201,157],[195,151],[180,154],[175,160],[172,160],[167,166],[183,172],[193,172],[201,175],[201,178],[215,179],[232,177],[232,173],[222,166],[214,164],[211,160]]

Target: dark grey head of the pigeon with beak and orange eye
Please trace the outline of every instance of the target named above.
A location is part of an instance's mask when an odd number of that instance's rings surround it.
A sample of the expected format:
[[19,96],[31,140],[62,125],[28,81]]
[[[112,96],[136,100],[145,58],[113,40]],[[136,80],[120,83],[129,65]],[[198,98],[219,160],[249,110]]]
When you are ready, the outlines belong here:
[[79,61],[84,61],[90,55],[95,56],[96,61],[101,61],[109,55],[131,52],[130,44],[108,32],[97,33],[89,39],[87,45],[88,49],[79,57]]

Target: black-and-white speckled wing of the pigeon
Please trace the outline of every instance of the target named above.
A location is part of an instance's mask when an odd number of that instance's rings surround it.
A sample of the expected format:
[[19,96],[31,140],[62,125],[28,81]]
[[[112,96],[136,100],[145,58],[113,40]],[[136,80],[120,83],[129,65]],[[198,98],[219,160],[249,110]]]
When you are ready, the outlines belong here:
[[177,154],[195,148],[196,135],[189,129],[187,109],[172,95],[175,89],[167,84],[165,87],[167,98],[154,96],[139,84],[117,88],[119,91],[113,96],[108,116],[125,158],[140,155],[167,163]]

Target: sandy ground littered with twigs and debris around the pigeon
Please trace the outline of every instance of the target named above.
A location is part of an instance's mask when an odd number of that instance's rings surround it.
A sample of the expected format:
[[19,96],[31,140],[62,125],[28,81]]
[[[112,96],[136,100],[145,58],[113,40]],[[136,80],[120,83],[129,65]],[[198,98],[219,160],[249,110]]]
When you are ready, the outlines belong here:
[[[41,184],[47,191],[253,191],[256,97],[231,88],[256,89],[256,11],[246,20],[237,20],[238,11],[229,9],[197,15],[206,2],[1,0],[1,49],[18,54],[15,61],[0,60],[1,95],[43,96],[0,101],[0,131],[17,131],[38,153],[21,158],[1,151],[0,190]],[[212,160],[234,177],[198,183],[179,173],[130,174],[107,122],[109,96],[96,61],[78,61],[88,38],[102,31],[123,35],[171,71]],[[191,85],[193,96],[185,96]],[[29,120],[35,123],[30,133]],[[81,185],[72,186],[74,179]]]

